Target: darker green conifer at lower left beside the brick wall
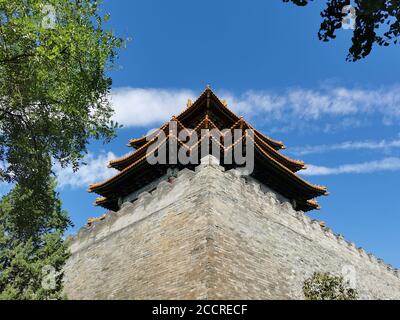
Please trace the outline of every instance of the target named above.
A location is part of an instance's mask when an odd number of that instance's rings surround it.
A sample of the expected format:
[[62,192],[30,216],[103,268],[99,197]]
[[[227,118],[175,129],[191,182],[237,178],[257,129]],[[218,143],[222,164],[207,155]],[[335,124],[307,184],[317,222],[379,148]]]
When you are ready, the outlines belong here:
[[63,297],[62,268],[69,257],[63,235],[71,221],[55,179],[42,184],[39,197],[17,184],[0,202],[0,299]]

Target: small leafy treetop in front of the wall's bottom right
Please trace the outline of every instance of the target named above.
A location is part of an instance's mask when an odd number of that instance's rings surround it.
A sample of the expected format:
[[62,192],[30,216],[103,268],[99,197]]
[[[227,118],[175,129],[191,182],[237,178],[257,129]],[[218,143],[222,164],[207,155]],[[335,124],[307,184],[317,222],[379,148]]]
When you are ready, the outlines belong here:
[[356,300],[357,291],[348,288],[343,277],[315,272],[303,285],[307,300]]

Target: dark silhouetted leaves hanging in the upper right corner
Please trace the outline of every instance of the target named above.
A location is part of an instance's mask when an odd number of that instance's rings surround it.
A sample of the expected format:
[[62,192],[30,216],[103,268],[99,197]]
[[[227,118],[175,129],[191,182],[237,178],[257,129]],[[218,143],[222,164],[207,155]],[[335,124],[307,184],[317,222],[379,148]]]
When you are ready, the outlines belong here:
[[[305,6],[312,0],[283,0]],[[352,1],[353,2],[353,1]],[[318,32],[322,41],[336,38],[336,31],[348,15],[346,6],[350,0],[328,0],[321,12],[323,21]],[[368,56],[374,44],[389,46],[397,44],[400,34],[400,1],[398,0],[355,0],[356,13],[352,45],[347,60],[357,61]]]

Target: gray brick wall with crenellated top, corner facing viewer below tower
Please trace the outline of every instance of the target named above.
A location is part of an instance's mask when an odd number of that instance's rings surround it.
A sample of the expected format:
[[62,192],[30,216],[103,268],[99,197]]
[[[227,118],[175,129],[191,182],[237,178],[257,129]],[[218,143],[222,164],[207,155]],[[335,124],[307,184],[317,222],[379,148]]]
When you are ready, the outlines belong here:
[[71,239],[70,299],[303,299],[314,271],[355,271],[361,299],[400,275],[235,170],[200,165]]

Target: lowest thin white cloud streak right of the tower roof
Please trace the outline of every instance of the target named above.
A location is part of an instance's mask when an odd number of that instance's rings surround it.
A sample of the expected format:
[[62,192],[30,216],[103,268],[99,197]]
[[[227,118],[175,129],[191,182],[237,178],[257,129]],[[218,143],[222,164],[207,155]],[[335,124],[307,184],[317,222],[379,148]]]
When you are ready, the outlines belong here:
[[304,176],[326,176],[344,173],[372,173],[378,171],[400,170],[400,158],[385,158],[378,161],[369,161],[355,164],[344,164],[338,167],[324,167],[307,165],[307,170],[302,171]]

